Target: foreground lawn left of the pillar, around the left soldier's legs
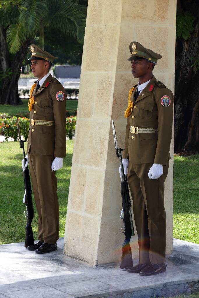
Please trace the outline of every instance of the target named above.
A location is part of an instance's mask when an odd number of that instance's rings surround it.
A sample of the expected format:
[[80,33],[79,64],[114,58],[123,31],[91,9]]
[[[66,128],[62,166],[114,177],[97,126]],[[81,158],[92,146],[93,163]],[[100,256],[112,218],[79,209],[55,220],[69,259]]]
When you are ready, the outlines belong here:
[[[56,174],[58,179],[60,237],[64,237],[73,143],[73,140],[67,141],[67,156],[64,158],[63,168],[58,170]],[[26,218],[23,214],[25,204],[22,203],[24,196],[22,158],[23,151],[19,148],[19,142],[0,143],[0,244],[24,241]],[[37,240],[38,214],[33,194],[32,197],[35,210],[32,227],[34,239]]]

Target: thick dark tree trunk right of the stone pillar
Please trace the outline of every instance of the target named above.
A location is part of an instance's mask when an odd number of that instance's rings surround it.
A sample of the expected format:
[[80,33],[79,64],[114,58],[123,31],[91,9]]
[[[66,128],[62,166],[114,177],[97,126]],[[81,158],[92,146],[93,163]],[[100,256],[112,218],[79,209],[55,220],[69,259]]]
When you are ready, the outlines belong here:
[[190,58],[199,53],[199,4],[197,0],[177,3],[181,11],[189,11],[196,19],[191,38],[176,41],[174,152],[195,153],[199,151],[199,71],[195,74]]

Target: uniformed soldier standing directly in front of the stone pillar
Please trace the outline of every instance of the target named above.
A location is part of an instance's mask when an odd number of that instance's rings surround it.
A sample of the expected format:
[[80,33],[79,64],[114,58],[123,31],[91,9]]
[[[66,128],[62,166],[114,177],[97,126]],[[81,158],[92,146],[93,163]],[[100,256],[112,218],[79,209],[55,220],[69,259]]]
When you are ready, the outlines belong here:
[[132,75],[139,82],[129,91],[125,111],[123,165],[126,175],[128,169],[139,264],[127,271],[148,276],[166,271],[164,181],[169,168],[174,97],[152,74],[162,56],[136,41],[130,43],[129,49]]

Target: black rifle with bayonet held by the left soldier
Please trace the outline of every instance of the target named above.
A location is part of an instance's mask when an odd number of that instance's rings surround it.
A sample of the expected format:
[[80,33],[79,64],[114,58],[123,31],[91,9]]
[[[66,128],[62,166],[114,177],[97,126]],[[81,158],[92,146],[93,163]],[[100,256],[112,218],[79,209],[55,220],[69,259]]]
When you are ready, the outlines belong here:
[[[19,127],[19,121],[17,117],[17,129],[18,129],[18,136],[19,136],[19,145],[20,148],[23,149],[24,154],[24,166],[26,164],[27,159],[25,158],[25,151],[24,151],[24,140],[21,140],[21,133],[20,133],[20,127]],[[33,237],[33,229],[32,229],[32,220],[35,216],[34,209],[33,209],[33,200],[32,200],[32,189],[30,184],[30,175],[28,167],[25,166],[24,170],[24,191],[25,191],[25,201],[23,201],[26,205],[26,210],[24,211],[24,216],[27,218],[26,223],[26,236],[25,236],[25,244],[24,246],[32,246],[35,244],[34,237]]]

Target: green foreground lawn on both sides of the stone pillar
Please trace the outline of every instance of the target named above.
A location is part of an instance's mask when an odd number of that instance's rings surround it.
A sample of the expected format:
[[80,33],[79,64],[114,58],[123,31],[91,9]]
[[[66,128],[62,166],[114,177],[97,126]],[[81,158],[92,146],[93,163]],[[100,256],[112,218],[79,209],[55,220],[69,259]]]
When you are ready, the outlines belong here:
[[[67,141],[64,166],[57,171],[60,237],[64,236],[74,141]],[[26,146],[26,144],[25,144]],[[0,244],[24,241],[22,150],[19,142],[0,143]],[[199,154],[174,157],[173,236],[199,243]],[[34,205],[36,211],[36,207]],[[37,212],[33,220],[36,239]]]

